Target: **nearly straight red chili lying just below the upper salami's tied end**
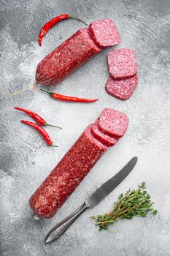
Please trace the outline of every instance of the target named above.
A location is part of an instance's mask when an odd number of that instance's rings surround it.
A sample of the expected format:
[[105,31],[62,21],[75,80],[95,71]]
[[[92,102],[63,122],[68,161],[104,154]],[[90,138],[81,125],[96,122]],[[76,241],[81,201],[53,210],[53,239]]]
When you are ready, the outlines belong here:
[[[42,90],[42,89],[41,89]],[[42,90],[45,91],[45,90]],[[59,99],[66,102],[96,102],[98,99],[83,99],[83,98],[77,98],[77,97],[70,97],[62,94],[56,94],[52,91],[45,91],[47,94],[50,95],[53,99]]]

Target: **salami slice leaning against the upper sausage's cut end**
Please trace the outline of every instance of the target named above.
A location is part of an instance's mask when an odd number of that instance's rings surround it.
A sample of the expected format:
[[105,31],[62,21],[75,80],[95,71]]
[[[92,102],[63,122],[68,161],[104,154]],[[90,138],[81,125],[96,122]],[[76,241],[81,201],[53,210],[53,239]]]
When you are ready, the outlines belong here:
[[117,45],[120,42],[120,34],[113,20],[97,20],[89,26],[90,37],[99,48]]

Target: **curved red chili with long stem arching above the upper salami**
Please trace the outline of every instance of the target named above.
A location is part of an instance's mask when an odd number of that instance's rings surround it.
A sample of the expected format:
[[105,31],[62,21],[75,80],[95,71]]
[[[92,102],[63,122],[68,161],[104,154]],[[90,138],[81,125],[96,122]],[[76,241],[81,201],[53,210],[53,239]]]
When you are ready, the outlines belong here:
[[[42,29],[39,32],[39,46],[42,45],[42,37],[45,37],[45,34],[47,34],[47,31],[49,31],[55,24],[59,23],[61,20],[66,20],[66,19],[79,20],[82,23],[85,23],[85,21],[80,20],[79,18],[76,18],[76,17],[70,16],[66,13],[63,13],[63,14],[53,18],[52,20],[48,21],[47,23],[45,23],[44,26],[42,26]],[[85,25],[87,26],[86,23],[85,23]]]

